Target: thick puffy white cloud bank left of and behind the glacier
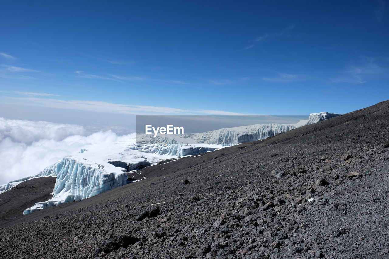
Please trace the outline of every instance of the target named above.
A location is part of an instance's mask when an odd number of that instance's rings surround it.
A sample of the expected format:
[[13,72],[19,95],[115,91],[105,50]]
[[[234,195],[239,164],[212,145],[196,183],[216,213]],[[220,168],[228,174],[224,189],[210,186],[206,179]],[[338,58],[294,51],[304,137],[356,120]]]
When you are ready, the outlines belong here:
[[134,137],[111,130],[91,132],[75,124],[0,117],[0,184],[39,173],[86,145]]

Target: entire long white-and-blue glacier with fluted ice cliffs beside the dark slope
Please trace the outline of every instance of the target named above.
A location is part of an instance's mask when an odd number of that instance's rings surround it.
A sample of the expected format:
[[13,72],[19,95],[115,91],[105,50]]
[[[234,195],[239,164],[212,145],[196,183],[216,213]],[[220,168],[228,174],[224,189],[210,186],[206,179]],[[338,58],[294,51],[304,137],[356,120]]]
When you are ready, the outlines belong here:
[[127,184],[127,172],[158,161],[214,151],[223,147],[273,137],[308,124],[338,116],[329,112],[310,114],[308,120],[289,124],[255,124],[217,129],[203,133],[182,135],[137,136],[126,141],[89,145],[79,153],[67,156],[42,172],[0,186],[0,193],[24,180],[36,177],[57,177],[53,197],[35,203],[24,210],[30,214],[36,210],[54,207],[71,201],[90,198],[115,187]]

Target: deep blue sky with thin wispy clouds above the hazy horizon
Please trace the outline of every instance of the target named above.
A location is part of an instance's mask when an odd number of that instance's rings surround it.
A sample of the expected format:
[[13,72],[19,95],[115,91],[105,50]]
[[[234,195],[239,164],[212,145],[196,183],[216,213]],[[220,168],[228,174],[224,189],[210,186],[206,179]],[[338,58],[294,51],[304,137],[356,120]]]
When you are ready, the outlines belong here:
[[3,1],[0,9],[1,107],[289,115],[389,99],[382,0]]

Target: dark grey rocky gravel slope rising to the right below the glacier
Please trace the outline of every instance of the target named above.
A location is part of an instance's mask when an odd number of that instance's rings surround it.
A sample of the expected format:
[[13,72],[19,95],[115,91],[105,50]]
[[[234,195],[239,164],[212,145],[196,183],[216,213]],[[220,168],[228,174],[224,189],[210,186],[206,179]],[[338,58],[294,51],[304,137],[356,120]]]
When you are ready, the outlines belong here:
[[[2,221],[2,258],[388,258],[389,101]],[[153,205],[156,203],[162,203]]]

